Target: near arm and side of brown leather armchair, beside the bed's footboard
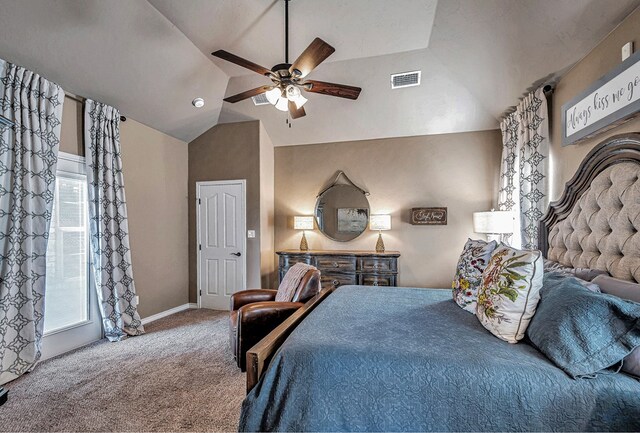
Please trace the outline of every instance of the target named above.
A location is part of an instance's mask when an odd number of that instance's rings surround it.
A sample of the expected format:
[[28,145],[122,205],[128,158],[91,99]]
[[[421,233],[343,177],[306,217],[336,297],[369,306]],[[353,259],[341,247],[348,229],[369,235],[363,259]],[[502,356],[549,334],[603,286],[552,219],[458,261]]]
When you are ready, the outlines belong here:
[[[302,302],[255,302],[238,310],[238,336],[242,356],[298,311]],[[244,363],[243,363],[244,364]]]

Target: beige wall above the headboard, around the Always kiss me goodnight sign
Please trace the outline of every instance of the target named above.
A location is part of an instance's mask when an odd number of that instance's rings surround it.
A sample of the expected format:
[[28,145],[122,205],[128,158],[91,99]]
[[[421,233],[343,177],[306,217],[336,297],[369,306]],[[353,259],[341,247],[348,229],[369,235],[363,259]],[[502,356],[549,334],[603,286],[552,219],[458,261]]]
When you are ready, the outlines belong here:
[[621,63],[622,46],[633,41],[640,49],[640,9],[636,9],[609,36],[578,62],[558,83],[553,95],[551,117],[552,194],[557,200],[564,184],[571,179],[586,154],[598,143],[616,134],[640,131],[640,118],[635,118],[617,128],[599,134],[590,140],[562,147],[562,104],[579,95],[598,78]]

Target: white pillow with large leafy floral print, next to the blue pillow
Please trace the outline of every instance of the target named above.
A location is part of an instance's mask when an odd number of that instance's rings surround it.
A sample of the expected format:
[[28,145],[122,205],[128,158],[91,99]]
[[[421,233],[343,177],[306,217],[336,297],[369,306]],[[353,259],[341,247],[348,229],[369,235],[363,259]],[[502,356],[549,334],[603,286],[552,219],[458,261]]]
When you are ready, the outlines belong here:
[[540,299],[542,253],[501,244],[482,273],[476,315],[496,337],[522,340]]

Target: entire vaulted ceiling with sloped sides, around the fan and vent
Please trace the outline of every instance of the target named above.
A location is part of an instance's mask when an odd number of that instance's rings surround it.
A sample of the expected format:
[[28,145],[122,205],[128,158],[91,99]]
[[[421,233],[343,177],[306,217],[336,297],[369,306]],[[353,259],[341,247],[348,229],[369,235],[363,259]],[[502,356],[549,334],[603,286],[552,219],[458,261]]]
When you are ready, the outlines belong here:
[[[65,90],[190,141],[261,119],[275,145],[485,130],[534,82],[586,55],[640,0],[291,0],[290,61],[318,36],[336,48],[311,78],[362,87],[310,94],[307,116],[222,99],[268,84],[216,59],[284,61],[282,0],[0,0],[0,57]],[[392,73],[422,84],[391,90]],[[206,105],[191,105],[202,97]]]

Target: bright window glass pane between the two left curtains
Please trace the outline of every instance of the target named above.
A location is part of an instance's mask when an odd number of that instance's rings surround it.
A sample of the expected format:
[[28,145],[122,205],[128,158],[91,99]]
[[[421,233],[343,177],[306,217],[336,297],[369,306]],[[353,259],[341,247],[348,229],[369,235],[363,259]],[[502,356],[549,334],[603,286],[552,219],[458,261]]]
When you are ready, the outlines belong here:
[[44,331],[89,318],[86,177],[58,173],[47,247]]

